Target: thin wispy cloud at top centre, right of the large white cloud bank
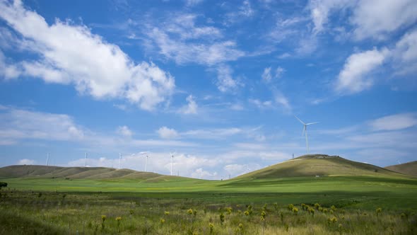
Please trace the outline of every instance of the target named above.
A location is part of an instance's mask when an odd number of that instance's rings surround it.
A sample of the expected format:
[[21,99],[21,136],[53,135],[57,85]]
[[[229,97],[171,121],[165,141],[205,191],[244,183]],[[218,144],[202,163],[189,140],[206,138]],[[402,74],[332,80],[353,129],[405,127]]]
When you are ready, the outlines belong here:
[[148,50],[153,50],[153,45],[156,45],[160,55],[173,59],[177,64],[208,66],[234,61],[245,55],[236,48],[235,41],[220,40],[223,37],[221,30],[211,26],[198,27],[195,19],[195,15],[184,14],[155,25],[147,23],[144,33],[152,42],[146,44]]

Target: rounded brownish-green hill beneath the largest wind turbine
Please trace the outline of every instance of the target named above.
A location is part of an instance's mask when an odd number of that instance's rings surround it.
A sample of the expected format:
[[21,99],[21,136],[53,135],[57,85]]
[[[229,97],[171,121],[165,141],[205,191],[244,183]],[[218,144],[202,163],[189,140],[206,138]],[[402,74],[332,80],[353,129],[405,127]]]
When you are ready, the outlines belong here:
[[237,178],[286,178],[301,176],[404,176],[379,166],[323,154],[304,155],[246,173]]

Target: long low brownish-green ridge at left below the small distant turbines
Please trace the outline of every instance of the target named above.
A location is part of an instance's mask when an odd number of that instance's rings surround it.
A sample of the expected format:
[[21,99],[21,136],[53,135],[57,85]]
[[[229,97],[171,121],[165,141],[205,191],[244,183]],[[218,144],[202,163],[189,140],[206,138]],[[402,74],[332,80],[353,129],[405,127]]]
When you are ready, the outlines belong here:
[[69,178],[69,179],[113,179],[127,178],[149,180],[162,176],[158,173],[115,169],[105,167],[61,167],[18,165],[0,168],[0,178]]

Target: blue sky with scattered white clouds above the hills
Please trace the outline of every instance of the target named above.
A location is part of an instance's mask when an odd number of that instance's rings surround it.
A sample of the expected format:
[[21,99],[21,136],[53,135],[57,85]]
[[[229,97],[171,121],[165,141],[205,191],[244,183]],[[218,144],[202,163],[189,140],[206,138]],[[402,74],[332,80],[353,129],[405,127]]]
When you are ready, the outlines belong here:
[[[417,1],[0,0],[0,166],[415,161]],[[143,153],[146,152],[146,153]],[[85,162],[85,154],[88,154]]]

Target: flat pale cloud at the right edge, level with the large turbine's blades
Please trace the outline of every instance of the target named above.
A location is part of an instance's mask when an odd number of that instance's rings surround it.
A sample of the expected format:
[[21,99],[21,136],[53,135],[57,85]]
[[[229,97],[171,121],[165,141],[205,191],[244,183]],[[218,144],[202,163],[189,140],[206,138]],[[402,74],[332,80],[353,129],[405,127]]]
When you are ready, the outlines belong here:
[[417,125],[417,115],[415,113],[400,113],[380,117],[369,122],[372,130],[401,130]]

